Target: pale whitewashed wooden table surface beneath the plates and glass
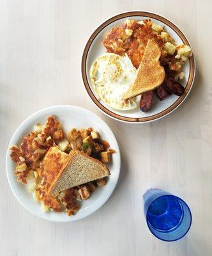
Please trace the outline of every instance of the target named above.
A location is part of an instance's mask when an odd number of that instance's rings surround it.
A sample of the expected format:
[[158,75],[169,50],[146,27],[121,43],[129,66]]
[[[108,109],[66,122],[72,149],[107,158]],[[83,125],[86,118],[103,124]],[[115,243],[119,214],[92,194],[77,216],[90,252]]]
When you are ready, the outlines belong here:
[[[151,124],[116,122],[96,109],[82,83],[86,40],[113,15],[146,10],[178,24],[193,46],[192,93],[172,115]],[[211,1],[0,1],[0,255],[212,255]],[[89,109],[103,118],[121,149],[121,177],[109,201],[74,223],[51,223],[27,212],[5,172],[10,138],[27,116],[56,104]],[[162,188],[188,202],[193,223],[175,243],[146,226],[142,195]]]

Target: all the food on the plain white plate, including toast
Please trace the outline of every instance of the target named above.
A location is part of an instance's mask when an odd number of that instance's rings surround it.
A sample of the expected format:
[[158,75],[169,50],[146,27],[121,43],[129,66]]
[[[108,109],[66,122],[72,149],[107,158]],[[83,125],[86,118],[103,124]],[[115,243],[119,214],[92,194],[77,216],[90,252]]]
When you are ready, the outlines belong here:
[[17,181],[26,184],[43,211],[66,211],[68,216],[79,210],[81,200],[107,184],[110,172],[105,163],[115,152],[91,127],[65,134],[54,116],[45,125],[35,125],[20,147],[10,150]]

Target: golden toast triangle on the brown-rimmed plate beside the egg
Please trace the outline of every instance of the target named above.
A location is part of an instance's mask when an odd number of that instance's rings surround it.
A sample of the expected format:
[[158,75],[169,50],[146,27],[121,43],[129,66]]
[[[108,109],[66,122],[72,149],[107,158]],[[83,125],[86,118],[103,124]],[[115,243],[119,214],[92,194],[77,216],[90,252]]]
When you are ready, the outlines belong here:
[[153,40],[148,40],[144,55],[137,70],[137,76],[133,84],[125,93],[124,99],[130,99],[141,93],[155,90],[163,83],[165,77],[164,68],[160,65],[160,48]]

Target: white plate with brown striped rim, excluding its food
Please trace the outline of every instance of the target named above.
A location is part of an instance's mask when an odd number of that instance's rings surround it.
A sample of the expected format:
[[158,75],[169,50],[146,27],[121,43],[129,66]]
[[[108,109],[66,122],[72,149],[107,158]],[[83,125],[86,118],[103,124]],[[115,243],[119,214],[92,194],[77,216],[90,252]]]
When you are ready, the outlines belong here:
[[126,19],[135,19],[135,20],[143,20],[143,19],[151,19],[153,23],[159,24],[160,26],[165,26],[165,30],[174,38],[177,44],[187,44],[190,45],[187,38],[183,33],[179,30],[179,28],[174,25],[170,20],[161,17],[160,15],[156,15],[154,13],[148,12],[128,12],[116,15],[111,19],[104,22],[100,25],[93,35],[89,38],[86,47],[84,49],[84,54],[82,56],[82,78],[84,81],[84,85],[86,87],[89,96],[95,102],[96,106],[105,113],[106,115],[124,122],[133,122],[133,123],[144,123],[151,122],[153,120],[160,119],[172,111],[174,111],[178,106],[186,99],[188,93],[190,92],[193,79],[195,76],[195,61],[194,58],[190,58],[185,65],[185,79],[183,81],[183,86],[185,86],[185,93],[181,97],[178,97],[174,94],[170,95],[167,99],[160,101],[156,99],[154,96],[152,108],[150,111],[144,113],[140,111],[140,109],[135,109],[132,111],[119,111],[116,109],[110,108],[103,100],[98,100],[96,98],[95,92],[93,90],[93,86],[91,84],[91,80],[89,77],[89,70],[93,62],[98,58],[98,56],[102,55],[106,52],[105,47],[102,45],[103,38],[109,33],[109,31],[114,26],[119,26]]

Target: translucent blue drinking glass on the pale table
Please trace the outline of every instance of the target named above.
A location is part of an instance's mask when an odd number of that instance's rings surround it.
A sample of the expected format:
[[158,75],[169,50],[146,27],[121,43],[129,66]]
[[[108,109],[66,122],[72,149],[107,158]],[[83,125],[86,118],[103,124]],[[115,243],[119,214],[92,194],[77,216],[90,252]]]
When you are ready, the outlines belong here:
[[192,225],[192,213],[181,198],[157,188],[148,189],[143,198],[144,216],[154,236],[169,242],[185,236]]

